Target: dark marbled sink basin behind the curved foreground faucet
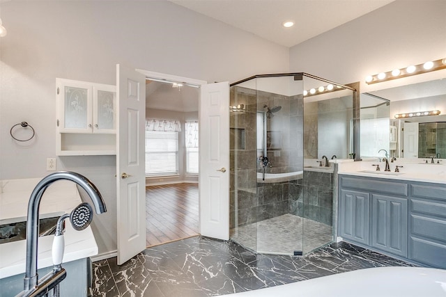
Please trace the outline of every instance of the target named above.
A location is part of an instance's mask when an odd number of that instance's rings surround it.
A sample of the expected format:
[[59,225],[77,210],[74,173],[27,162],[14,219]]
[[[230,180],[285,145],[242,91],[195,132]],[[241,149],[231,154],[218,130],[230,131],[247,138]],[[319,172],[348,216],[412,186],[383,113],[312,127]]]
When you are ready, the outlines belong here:
[[[39,236],[54,234],[59,216],[39,220]],[[0,244],[26,239],[26,221],[0,225]]]

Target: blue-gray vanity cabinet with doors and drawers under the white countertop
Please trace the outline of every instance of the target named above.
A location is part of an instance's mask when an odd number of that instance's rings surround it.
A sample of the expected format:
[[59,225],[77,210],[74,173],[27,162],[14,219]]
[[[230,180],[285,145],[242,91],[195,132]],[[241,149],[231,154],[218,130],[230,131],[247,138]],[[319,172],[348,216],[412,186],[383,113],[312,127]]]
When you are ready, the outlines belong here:
[[446,184],[339,175],[338,230],[360,246],[446,268]]

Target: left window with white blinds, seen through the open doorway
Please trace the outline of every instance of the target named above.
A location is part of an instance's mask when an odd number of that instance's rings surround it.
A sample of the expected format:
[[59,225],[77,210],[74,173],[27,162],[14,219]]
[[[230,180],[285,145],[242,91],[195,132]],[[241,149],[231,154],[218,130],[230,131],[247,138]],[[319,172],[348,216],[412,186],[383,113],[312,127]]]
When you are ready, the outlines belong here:
[[146,122],[146,177],[178,175],[178,131],[153,131]]

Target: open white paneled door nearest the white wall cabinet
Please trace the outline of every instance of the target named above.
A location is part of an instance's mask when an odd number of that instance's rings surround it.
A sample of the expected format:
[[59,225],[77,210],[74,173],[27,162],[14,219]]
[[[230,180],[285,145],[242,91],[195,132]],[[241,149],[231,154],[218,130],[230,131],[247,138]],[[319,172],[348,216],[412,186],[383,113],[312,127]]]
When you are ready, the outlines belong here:
[[143,74],[116,65],[118,265],[146,248],[145,81]]

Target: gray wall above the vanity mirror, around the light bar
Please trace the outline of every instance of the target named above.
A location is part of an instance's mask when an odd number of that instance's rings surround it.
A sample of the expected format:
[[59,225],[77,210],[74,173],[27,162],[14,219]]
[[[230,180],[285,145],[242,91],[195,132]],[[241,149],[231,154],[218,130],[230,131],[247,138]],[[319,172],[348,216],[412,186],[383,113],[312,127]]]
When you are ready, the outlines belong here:
[[338,83],[360,81],[361,93],[417,81],[446,70],[367,86],[365,77],[445,58],[446,1],[397,0],[290,49],[290,70]]

